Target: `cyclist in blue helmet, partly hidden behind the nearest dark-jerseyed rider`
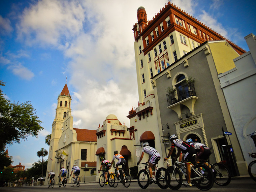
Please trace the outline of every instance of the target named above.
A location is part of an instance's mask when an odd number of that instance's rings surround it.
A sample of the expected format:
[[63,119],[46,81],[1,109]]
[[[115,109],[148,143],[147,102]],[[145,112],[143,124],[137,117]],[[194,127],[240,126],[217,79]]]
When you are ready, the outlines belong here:
[[193,140],[190,138],[187,139],[186,142],[189,143],[189,145],[193,146],[197,152],[195,162],[199,163],[199,161],[202,161],[205,165],[208,166],[208,163],[206,163],[205,161],[207,161],[211,155],[211,150],[209,149],[209,147],[203,145],[202,143],[193,142]]

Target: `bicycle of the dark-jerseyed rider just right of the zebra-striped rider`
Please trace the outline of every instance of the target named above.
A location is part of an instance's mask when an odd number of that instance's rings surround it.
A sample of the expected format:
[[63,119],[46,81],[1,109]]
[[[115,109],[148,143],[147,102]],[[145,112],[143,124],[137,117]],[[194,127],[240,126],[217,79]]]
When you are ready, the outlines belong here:
[[[172,190],[178,190],[183,182],[183,175],[186,180],[185,163],[173,161],[173,166],[169,166],[165,171],[165,181],[168,187]],[[167,162],[169,165],[170,163]],[[214,175],[212,170],[205,164],[198,163],[196,165],[190,164],[191,179],[190,181],[200,190],[209,190],[214,184]]]

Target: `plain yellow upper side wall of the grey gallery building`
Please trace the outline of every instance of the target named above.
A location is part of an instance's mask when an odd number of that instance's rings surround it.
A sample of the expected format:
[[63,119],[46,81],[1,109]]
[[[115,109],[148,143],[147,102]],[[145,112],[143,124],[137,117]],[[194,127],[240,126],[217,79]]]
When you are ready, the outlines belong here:
[[226,41],[209,43],[209,46],[218,74],[235,68],[235,63],[233,62],[233,59],[235,59],[239,55]]

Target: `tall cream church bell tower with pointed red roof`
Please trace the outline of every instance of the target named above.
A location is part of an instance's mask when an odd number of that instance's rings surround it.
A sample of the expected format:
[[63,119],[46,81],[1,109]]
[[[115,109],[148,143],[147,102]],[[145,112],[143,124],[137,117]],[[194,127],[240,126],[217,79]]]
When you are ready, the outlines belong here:
[[[58,96],[58,104],[56,108],[55,119],[52,124],[52,135],[50,140],[49,158],[47,163],[47,171],[55,170],[57,162],[55,160],[56,150],[63,130],[63,123],[68,111],[71,111],[71,95],[65,84],[62,92]],[[56,165],[56,166],[55,166]],[[47,173],[46,173],[47,175]]]

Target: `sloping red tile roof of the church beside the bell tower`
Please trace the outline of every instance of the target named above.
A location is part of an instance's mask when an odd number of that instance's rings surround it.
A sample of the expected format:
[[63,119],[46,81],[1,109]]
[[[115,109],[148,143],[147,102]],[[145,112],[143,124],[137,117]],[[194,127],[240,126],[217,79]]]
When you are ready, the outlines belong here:
[[97,135],[96,130],[89,130],[89,129],[76,129],[76,140],[77,141],[92,141],[97,142]]

